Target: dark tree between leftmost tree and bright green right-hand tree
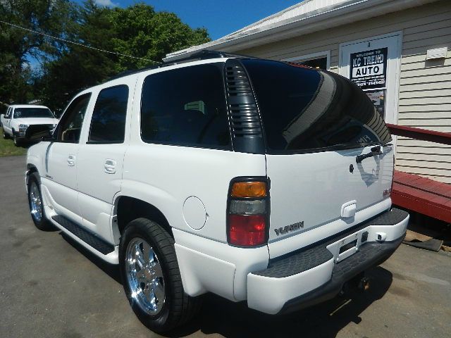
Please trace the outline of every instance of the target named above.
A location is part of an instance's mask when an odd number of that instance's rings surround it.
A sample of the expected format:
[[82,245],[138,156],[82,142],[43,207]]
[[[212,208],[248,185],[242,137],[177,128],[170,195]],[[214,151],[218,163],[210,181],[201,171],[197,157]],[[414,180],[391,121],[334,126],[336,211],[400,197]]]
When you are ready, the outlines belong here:
[[97,49],[112,51],[116,32],[111,25],[109,8],[99,7],[94,1],[83,6],[73,4],[75,20],[70,32],[71,42],[44,63],[42,76],[37,80],[39,97],[52,110],[61,110],[80,90],[93,86],[118,73],[118,58]]

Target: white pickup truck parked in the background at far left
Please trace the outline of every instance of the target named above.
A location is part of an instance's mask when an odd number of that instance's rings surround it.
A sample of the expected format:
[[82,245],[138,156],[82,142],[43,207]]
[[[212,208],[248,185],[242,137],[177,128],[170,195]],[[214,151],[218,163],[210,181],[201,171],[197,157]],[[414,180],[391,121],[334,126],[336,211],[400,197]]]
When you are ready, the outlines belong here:
[[25,140],[25,132],[30,125],[45,125],[49,130],[54,130],[58,119],[46,106],[14,104],[1,115],[0,123],[4,139],[11,137],[18,146]]

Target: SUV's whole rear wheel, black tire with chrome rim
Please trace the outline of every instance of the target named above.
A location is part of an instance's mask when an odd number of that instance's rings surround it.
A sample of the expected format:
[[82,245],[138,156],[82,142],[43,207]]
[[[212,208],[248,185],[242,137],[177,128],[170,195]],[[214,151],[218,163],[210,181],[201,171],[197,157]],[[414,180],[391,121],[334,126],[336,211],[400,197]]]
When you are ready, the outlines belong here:
[[154,332],[167,332],[190,320],[199,299],[183,290],[174,240],[146,218],[130,222],[119,246],[125,294],[135,315]]

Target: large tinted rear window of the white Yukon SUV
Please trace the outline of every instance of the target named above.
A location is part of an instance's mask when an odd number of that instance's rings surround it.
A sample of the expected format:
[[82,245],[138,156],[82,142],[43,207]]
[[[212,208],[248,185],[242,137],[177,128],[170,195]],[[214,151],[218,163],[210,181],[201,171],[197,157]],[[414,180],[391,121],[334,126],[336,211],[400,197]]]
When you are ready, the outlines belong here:
[[243,60],[269,151],[326,151],[390,142],[383,118],[359,87],[300,65]]

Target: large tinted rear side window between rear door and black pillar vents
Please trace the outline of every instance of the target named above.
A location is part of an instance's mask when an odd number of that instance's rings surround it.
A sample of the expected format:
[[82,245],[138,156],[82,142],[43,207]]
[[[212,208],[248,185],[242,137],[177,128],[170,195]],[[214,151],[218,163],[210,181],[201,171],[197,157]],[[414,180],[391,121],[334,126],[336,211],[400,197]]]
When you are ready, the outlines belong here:
[[149,75],[141,103],[144,142],[223,147],[230,144],[221,64]]

